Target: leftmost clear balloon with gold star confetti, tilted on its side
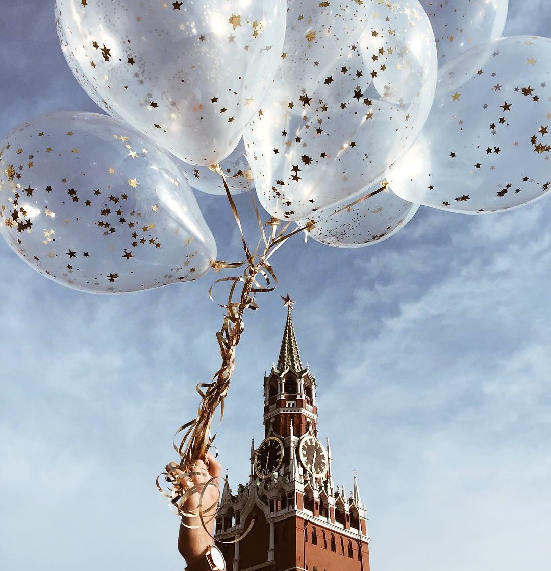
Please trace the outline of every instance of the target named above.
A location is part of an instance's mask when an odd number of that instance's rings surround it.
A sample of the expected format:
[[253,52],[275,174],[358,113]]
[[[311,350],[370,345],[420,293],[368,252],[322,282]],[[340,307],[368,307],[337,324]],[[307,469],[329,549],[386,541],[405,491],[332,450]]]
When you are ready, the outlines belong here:
[[216,244],[166,152],[94,113],[44,115],[0,143],[0,232],[34,270],[120,293],[200,278]]

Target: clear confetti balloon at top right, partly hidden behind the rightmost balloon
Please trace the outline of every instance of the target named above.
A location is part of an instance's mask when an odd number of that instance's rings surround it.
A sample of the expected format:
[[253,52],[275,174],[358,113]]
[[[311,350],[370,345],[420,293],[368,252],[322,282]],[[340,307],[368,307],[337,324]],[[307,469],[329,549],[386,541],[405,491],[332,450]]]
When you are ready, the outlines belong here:
[[419,0],[436,38],[438,65],[501,37],[509,0]]

